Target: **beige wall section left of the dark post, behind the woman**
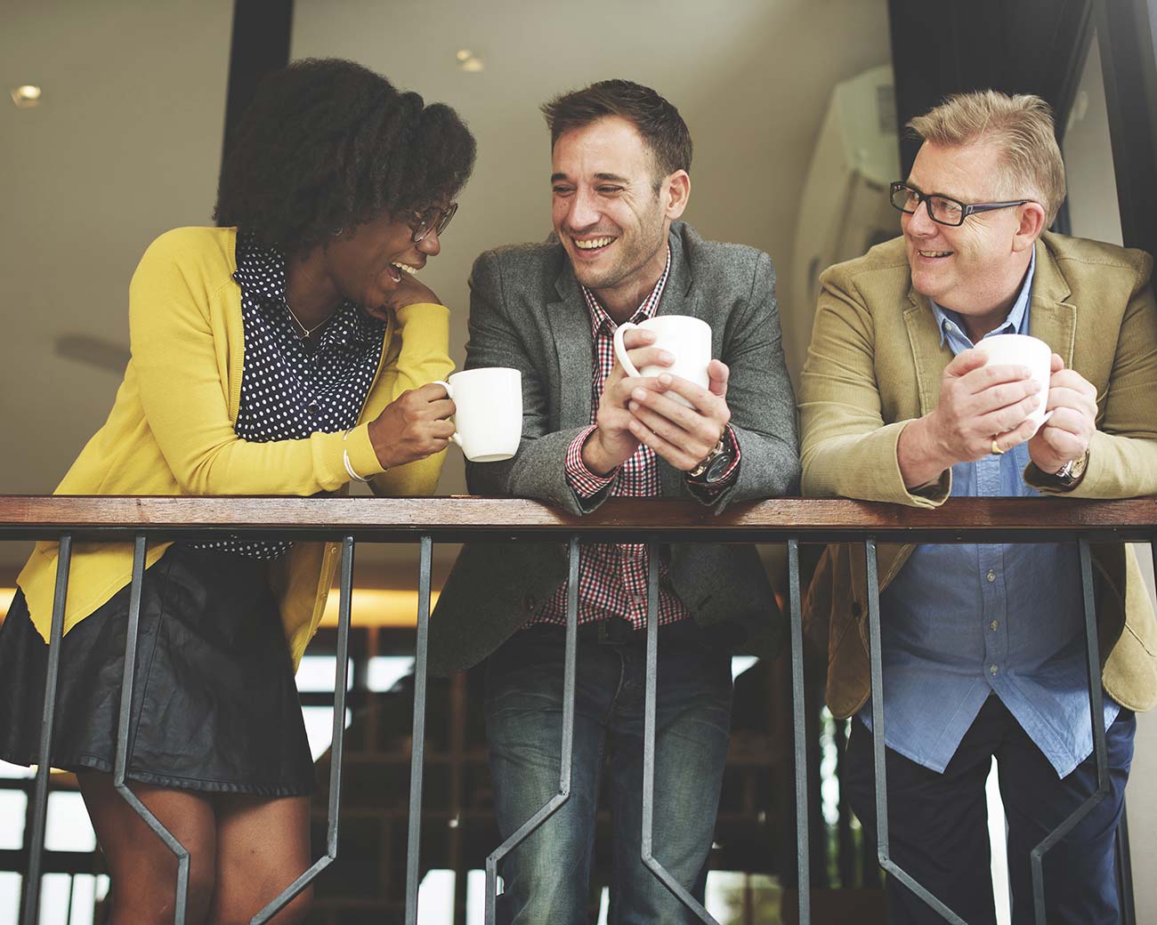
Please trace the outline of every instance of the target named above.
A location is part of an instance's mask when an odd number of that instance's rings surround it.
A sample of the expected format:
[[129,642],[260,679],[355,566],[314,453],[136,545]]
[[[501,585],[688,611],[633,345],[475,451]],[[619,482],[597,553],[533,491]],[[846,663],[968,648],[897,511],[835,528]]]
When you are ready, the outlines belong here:
[[[0,28],[0,490],[51,491],[100,427],[118,373],[53,353],[127,347],[128,278],[148,242],[208,223],[230,0],[6,3]],[[37,109],[8,88],[43,86]]]

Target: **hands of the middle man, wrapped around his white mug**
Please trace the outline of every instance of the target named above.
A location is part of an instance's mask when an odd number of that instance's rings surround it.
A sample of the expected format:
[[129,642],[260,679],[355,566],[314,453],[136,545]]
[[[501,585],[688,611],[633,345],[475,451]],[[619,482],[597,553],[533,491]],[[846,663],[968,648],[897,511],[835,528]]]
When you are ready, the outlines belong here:
[[[654,346],[655,334],[634,328],[624,346],[635,369],[669,367],[675,357]],[[703,388],[681,376],[627,376],[618,361],[603,384],[595,430],[583,444],[587,468],[606,475],[646,444],[681,472],[690,472],[715,447],[731,420],[727,405],[728,368],[718,360],[707,367]],[[681,395],[692,407],[676,401]]]

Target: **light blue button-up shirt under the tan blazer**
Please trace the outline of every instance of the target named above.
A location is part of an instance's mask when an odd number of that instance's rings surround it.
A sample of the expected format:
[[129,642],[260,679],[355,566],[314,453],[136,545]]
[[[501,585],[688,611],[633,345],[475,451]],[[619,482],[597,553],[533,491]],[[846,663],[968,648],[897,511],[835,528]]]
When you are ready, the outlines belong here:
[[[1036,256],[1004,323],[1027,334]],[[960,317],[933,303],[941,343],[973,345]],[[952,466],[952,497],[1032,497],[1029,446]],[[918,546],[880,595],[884,741],[943,771],[995,694],[1060,777],[1092,754],[1084,605],[1076,543]],[[1099,679],[1098,679],[1099,682]],[[1105,726],[1119,706],[1105,698]],[[871,703],[860,717],[871,725]]]

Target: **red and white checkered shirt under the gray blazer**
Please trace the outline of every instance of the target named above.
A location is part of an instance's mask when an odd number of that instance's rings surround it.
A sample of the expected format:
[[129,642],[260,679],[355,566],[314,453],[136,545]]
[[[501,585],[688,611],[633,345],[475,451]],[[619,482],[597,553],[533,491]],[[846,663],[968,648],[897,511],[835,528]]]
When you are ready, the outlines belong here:
[[[646,318],[654,318],[658,309],[663,288],[671,272],[671,251],[666,252],[666,266],[663,275],[642,305],[631,317],[639,324]],[[591,426],[567,447],[566,475],[570,487],[584,498],[590,498],[604,490],[614,481],[616,473],[602,476],[587,468],[582,461],[582,446],[595,429],[598,402],[603,397],[603,384],[614,368],[614,330],[618,327],[606,310],[598,304],[595,294],[583,287],[583,296],[590,311],[591,335],[595,341],[594,361],[591,363],[590,420]],[[735,461],[725,474],[730,478],[738,467],[738,442],[728,428],[728,443],[731,445]],[[658,458],[655,451],[643,444],[627,459],[618,471],[618,481],[611,488],[611,494],[620,497],[657,497],[659,494]],[[684,620],[690,614],[683,602],[671,590],[668,579],[670,554],[664,547],[659,562],[658,585],[658,622],[673,623]],[[641,542],[592,543],[580,548],[578,554],[578,622],[590,623],[610,616],[621,616],[635,629],[647,626],[647,545]],[[566,623],[567,584],[547,601],[543,610],[530,623]]]

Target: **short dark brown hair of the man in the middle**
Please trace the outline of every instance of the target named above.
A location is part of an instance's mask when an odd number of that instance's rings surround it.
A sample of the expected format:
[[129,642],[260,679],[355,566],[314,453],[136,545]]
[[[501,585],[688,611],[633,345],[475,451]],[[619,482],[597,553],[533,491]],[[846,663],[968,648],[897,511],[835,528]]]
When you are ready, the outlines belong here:
[[691,172],[691,132],[679,110],[650,87],[629,80],[600,80],[582,90],[559,94],[543,104],[543,114],[551,130],[551,148],[559,136],[582,128],[607,116],[629,121],[643,136],[655,158],[659,177],[676,170]]

